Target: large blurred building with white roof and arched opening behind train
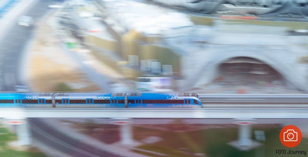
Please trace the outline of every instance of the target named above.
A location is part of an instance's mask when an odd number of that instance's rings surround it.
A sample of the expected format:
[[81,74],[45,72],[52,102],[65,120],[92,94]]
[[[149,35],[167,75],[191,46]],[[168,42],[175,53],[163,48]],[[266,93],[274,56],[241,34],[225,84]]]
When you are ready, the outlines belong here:
[[[303,64],[306,23],[217,19],[136,1],[95,2],[107,14],[79,16],[79,23],[88,24],[83,43],[127,78],[159,77],[165,74],[163,65],[169,65],[168,75],[181,78],[178,90],[202,88],[217,80],[227,85],[281,84],[308,90],[308,69]],[[91,31],[95,26],[99,29]]]

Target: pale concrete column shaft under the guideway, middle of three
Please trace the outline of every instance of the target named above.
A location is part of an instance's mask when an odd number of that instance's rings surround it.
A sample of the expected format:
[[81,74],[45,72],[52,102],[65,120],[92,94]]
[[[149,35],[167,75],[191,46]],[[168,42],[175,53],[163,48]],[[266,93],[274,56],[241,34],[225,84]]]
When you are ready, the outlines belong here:
[[132,144],[133,143],[133,131],[131,124],[120,125],[120,143],[121,144]]

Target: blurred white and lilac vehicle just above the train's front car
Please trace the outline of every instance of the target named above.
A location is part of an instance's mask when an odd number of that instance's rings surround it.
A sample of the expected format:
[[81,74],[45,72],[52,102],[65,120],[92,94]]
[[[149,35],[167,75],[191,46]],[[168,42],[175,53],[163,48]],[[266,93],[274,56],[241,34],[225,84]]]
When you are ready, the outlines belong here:
[[138,77],[136,80],[137,91],[170,92],[173,79],[169,77]]

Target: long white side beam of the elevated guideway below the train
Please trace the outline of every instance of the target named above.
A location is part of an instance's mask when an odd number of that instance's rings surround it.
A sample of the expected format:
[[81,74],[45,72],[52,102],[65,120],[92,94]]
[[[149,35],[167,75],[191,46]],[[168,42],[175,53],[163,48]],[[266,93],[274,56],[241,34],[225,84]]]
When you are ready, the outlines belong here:
[[6,118],[219,118],[219,119],[306,119],[308,107],[254,107],[254,108],[2,108],[1,117]]

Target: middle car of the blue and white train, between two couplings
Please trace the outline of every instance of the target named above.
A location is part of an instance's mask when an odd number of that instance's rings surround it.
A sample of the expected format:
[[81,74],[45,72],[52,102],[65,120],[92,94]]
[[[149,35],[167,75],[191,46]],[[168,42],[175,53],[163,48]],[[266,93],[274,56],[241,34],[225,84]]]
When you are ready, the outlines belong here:
[[125,93],[56,93],[55,107],[125,107]]

